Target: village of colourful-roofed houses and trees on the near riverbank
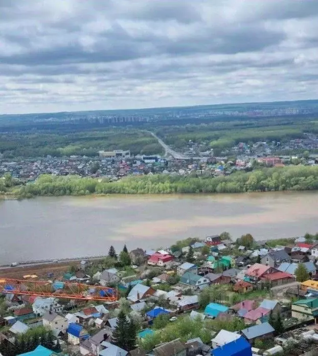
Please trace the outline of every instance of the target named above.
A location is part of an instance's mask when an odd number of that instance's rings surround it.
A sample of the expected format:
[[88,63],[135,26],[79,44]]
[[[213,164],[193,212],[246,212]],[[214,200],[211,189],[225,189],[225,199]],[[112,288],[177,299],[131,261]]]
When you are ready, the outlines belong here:
[[317,235],[223,232],[159,250],[110,247],[102,260],[43,265],[40,276],[11,267],[0,278],[0,352],[314,356],[317,258]]

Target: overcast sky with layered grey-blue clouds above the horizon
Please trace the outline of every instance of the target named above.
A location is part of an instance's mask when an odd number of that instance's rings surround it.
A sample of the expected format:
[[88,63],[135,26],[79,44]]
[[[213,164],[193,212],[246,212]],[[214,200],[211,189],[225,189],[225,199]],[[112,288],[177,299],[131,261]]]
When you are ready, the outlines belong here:
[[318,0],[0,0],[0,114],[317,93]]

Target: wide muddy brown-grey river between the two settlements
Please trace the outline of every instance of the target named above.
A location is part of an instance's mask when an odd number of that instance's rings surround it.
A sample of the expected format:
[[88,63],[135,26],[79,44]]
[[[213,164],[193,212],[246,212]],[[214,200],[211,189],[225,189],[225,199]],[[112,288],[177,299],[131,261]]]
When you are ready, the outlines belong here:
[[318,192],[110,195],[0,201],[0,264],[169,246],[229,231],[233,238],[318,231]]

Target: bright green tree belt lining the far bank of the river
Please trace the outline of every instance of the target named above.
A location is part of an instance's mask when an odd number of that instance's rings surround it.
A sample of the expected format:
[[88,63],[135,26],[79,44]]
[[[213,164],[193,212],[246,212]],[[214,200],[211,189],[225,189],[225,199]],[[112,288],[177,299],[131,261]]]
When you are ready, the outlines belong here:
[[318,167],[298,165],[218,177],[164,174],[128,176],[116,182],[76,175],[44,174],[33,183],[12,186],[10,192],[23,198],[40,195],[240,193],[315,189],[318,189]]

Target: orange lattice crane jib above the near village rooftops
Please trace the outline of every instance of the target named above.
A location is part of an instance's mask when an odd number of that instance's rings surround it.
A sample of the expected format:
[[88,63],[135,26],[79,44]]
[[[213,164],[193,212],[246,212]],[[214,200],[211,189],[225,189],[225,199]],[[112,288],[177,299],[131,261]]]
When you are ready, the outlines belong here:
[[118,299],[114,288],[69,282],[30,281],[0,277],[0,294],[21,294],[39,297],[55,297],[113,302]]

